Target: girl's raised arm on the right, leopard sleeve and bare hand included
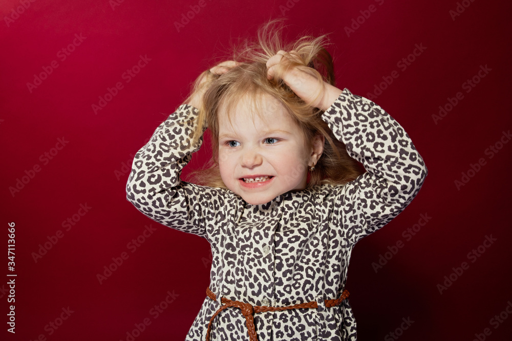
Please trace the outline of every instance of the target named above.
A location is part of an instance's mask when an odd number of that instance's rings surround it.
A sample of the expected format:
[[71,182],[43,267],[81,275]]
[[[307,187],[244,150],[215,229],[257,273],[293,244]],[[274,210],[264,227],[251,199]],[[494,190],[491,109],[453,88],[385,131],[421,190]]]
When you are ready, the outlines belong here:
[[396,217],[416,196],[427,169],[409,135],[372,101],[321,80],[295,52],[279,51],[267,61],[267,78],[283,79],[293,92],[324,111],[322,119],[367,170],[334,189],[332,222],[353,243]]

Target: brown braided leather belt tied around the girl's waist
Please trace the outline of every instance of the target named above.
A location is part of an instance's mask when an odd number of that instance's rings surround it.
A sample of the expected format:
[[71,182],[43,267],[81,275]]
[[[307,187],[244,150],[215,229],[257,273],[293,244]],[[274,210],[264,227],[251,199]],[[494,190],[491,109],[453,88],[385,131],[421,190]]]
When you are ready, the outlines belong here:
[[[214,300],[217,301],[217,295],[213,292],[211,292],[210,288],[206,288],[206,295]],[[347,290],[344,290],[342,295],[339,297],[339,299],[336,300],[325,300],[325,306],[326,308],[337,306],[338,304],[342,303],[343,300],[345,300],[347,297],[349,297],[349,292]],[[315,301],[308,302],[308,303],[301,303],[301,304],[295,304],[293,306],[288,307],[266,307],[266,306],[252,306],[249,303],[244,303],[240,301],[231,301],[226,298],[221,298],[221,302],[224,303],[222,307],[220,307],[213,316],[211,316],[210,322],[208,323],[208,330],[206,331],[206,341],[210,340],[210,329],[211,324],[214,322],[215,316],[217,316],[222,310],[224,310],[227,307],[237,307],[242,310],[242,315],[245,316],[246,325],[247,325],[247,333],[249,334],[250,341],[258,341],[258,338],[256,336],[256,331],[254,330],[254,317],[252,314],[254,312],[265,312],[265,311],[281,311],[281,310],[289,310],[289,309],[300,309],[300,308],[318,308],[318,304]]]

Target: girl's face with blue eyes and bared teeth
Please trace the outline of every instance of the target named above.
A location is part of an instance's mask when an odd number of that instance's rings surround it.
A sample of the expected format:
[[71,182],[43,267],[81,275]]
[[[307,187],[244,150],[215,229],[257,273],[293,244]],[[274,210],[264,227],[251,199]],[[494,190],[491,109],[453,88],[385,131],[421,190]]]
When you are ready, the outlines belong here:
[[[308,165],[317,160],[312,160],[313,148],[307,148],[300,127],[284,106],[269,95],[264,101],[264,120],[254,115],[253,121],[243,100],[232,112],[232,125],[225,106],[218,111],[222,180],[250,204],[267,203],[285,192],[305,189]],[[246,181],[254,177],[264,178]]]

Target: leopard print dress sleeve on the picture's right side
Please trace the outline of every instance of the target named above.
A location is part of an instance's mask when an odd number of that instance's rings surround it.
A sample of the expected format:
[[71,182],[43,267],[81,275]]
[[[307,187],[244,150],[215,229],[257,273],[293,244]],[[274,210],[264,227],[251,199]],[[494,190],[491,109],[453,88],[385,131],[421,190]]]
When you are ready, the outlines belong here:
[[402,212],[428,171],[409,135],[372,101],[345,88],[322,118],[367,170],[333,193],[339,204],[332,214],[356,243]]

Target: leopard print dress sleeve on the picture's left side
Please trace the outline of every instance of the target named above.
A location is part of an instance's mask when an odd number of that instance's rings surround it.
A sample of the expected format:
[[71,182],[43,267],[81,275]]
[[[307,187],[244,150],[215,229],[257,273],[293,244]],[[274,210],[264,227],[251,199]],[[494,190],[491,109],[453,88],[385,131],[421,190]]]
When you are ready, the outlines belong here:
[[215,220],[224,206],[223,191],[180,179],[191,154],[202,144],[202,136],[195,146],[191,143],[197,114],[195,107],[182,104],[157,127],[135,154],[126,199],[147,217],[211,242],[206,221]]

